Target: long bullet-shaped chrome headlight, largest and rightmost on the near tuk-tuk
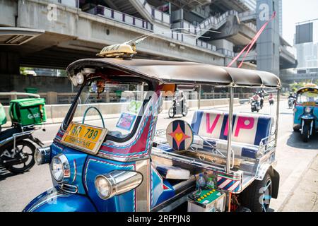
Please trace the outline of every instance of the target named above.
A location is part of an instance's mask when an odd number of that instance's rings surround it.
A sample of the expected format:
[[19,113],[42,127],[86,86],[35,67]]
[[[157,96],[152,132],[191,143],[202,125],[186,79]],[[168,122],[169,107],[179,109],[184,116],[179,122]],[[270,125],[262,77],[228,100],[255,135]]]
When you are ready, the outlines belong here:
[[142,181],[143,176],[139,172],[114,170],[109,174],[98,175],[95,187],[98,196],[107,199],[136,189]]

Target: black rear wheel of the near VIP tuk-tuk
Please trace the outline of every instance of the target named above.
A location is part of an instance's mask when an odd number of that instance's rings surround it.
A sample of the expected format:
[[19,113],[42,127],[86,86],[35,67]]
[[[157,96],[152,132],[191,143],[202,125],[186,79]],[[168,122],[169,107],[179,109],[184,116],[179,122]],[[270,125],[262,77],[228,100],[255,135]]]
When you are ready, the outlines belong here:
[[255,180],[242,192],[241,204],[252,212],[267,212],[272,191],[271,175],[267,172],[262,181]]

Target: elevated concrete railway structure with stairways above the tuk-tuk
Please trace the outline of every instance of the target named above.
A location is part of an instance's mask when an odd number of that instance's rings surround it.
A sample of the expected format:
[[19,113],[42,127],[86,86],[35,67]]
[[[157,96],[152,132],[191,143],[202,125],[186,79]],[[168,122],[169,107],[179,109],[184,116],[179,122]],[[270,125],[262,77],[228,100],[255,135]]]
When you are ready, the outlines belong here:
[[[257,32],[257,13],[243,0],[165,1],[167,10],[157,0],[95,2],[0,0],[0,73],[18,73],[19,66],[65,69],[141,35],[151,37],[139,44],[137,57],[226,66]],[[243,67],[256,69],[257,52],[245,61]],[[295,63],[284,45],[281,61]]]

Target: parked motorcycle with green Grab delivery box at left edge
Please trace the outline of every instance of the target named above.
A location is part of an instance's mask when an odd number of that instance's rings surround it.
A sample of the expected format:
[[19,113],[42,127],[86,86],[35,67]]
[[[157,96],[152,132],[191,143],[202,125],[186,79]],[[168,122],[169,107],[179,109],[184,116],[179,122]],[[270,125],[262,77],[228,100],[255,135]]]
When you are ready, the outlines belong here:
[[11,128],[0,132],[0,167],[13,173],[23,173],[33,167],[34,143],[40,147],[44,145],[33,137],[33,132],[46,121],[44,106],[45,99],[41,98],[11,101]]

